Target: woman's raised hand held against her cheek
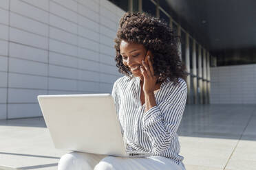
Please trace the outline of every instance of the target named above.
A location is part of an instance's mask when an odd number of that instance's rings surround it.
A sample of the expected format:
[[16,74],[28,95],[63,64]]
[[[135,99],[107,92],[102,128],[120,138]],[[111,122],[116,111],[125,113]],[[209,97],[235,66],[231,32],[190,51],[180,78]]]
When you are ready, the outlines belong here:
[[140,71],[143,75],[143,91],[145,94],[153,94],[153,90],[156,88],[157,78],[153,72],[153,65],[150,60],[151,58],[147,56],[147,64],[144,60],[142,60],[142,66],[140,66]]

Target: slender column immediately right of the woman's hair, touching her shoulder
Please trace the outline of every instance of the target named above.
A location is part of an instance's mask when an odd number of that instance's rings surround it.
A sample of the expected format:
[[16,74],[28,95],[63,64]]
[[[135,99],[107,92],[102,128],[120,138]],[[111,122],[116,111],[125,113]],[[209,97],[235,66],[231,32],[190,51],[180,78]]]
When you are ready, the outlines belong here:
[[189,33],[186,32],[186,71],[189,73],[186,77],[186,84],[188,88],[188,96],[186,98],[186,103],[191,104],[191,75],[190,75],[190,58],[189,58]]

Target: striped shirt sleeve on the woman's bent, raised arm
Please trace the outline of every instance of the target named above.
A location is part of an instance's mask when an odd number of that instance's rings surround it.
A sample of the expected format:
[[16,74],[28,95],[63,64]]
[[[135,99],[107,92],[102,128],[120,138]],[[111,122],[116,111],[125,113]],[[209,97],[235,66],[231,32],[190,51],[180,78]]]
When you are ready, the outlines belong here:
[[144,113],[142,130],[149,136],[153,153],[160,154],[170,147],[182,119],[186,94],[186,88],[180,90]]

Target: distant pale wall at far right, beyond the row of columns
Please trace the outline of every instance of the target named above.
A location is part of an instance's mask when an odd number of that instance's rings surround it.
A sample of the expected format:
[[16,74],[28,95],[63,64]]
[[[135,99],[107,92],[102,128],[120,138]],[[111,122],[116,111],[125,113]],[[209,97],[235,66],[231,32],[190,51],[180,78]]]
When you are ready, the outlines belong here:
[[256,64],[212,67],[211,104],[256,104]]

